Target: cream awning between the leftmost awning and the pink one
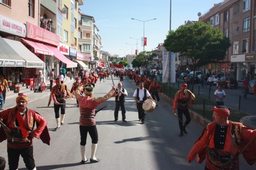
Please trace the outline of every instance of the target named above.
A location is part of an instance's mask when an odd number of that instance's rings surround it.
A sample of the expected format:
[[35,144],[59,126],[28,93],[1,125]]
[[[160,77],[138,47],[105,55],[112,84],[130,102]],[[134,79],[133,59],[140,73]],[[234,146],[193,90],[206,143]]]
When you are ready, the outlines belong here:
[[15,47],[14,51],[17,52],[25,61],[26,68],[43,68],[44,63],[41,59],[39,59],[34,53],[29,51],[21,42],[5,39],[5,42],[9,44],[11,47]]

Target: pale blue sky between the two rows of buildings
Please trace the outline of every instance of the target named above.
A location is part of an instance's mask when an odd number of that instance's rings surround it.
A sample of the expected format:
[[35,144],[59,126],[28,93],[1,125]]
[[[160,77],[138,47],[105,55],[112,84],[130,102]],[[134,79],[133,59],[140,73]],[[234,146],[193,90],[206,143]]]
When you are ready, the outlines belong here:
[[[110,55],[134,55],[135,49],[143,51],[143,23],[147,45],[152,51],[163,43],[170,30],[176,30],[185,21],[198,20],[214,3],[223,0],[85,0],[79,6],[83,14],[93,16],[101,36],[102,51]],[[132,20],[131,18],[138,19]],[[151,20],[157,18],[155,20]],[[149,20],[146,22],[146,20]],[[145,21],[145,22],[143,22]],[[130,38],[131,37],[131,38]],[[136,40],[137,39],[137,40]],[[137,44],[138,43],[138,44]]]

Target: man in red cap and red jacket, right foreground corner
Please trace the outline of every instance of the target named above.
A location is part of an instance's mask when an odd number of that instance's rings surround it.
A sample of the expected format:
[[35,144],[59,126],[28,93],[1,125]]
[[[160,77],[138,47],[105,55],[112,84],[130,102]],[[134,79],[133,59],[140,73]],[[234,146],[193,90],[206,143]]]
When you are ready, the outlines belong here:
[[229,121],[230,110],[225,106],[213,109],[213,122],[209,123],[187,155],[187,161],[198,163],[206,157],[205,169],[239,169],[239,155],[247,163],[256,161],[256,130]]

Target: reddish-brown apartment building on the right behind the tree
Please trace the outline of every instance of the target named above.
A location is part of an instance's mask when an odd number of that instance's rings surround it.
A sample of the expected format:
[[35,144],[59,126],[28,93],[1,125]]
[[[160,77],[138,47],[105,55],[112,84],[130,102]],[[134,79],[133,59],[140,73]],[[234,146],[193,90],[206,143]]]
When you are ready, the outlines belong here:
[[243,80],[249,72],[253,78],[256,74],[255,1],[222,1],[200,16],[199,21],[220,28],[231,42],[225,59],[207,65],[207,69],[238,80]]

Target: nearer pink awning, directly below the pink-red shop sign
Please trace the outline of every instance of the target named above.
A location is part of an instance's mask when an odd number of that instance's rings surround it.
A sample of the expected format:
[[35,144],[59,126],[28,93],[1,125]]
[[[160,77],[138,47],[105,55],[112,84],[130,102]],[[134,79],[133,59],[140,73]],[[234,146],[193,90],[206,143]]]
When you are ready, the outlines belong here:
[[41,53],[43,55],[53,56],[53,52],[48,49],[44,44],[32,42],[30,40],[25,40],[21,38],[22,42],[26,43],[27,45],[30,45],[34,48],[35,53]]

